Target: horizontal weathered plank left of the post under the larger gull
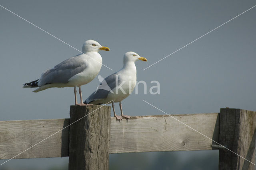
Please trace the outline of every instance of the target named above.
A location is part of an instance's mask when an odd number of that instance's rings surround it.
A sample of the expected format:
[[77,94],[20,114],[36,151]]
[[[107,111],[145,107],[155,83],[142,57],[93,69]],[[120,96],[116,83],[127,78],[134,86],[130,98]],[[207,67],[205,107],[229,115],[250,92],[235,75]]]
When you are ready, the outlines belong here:
[[[69,125],[69,119],[0,122],[0,159],[10,159]],[[48,158],[68,156],[69,128],[56,133],[15,157]]]

